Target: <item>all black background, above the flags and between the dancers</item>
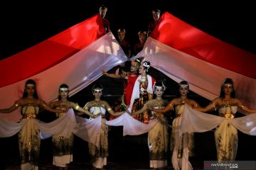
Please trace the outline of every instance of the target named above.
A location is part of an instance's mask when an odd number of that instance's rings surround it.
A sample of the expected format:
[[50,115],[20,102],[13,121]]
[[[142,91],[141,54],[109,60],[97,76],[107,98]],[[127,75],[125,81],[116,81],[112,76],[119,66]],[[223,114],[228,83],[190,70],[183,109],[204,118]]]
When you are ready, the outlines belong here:
[[[3,1],[0,6],[0,60],[36,45],[38,42],[94,16],[98,13],[98,8],[101,4],[105,4],[108,7],[106,18],[110,20],[112,33],[116,36],[118,28],[125,28],[127,30],[126,38],[132,47],[138,40],[138,31],[147,30],[148,23],[152,20],[151,10],[159,8],[162,13],[168,11],[192,26],[213,35],[215,38],[256,54],[256,10],[253,1],[225,1],[225,4],[224,1],[161,0]],[[156,79],[164,79],[166,81],[168,88],[164,95],[167,100],[170,101],[176,96],[176,89],[178,88],[176,82],[154,69],[151,69],[151,74]],[[97,82],[103,84],[105,88],[103,99],[111,105],[122,95],[122,81],[101,77]],[[84,106],[87,101],[92,100],[92,85],[72,96],[71,101],[78,102],[80,106]],[[210,102],[192,91],[191,98],[198,101],[201,106],[206,106]],[[238,116],[240,116],[239,113]],[[54,119],[54,116],[41,116],[41,119],[50,121]],[[146,139],[145,136],[141,138]],[[255,156],[250,156],[250,153],[253,155],[256,152],[255,141],[254,136],[239,132],[237,160],[255,160]],[[7,165],[18,164],[17,136],[1,139],[0,145],[1,162]],[[193,158],[194,160],[203,162],[203,160],[214,160],[216,158],[212,131],[196,133],[195,145],[196,157]],[[51,162],[50,139],[43,140],[41,147],[42,160]],[[122,138],[122,129],[120,130],[120,128],[112,128],[110,130],[110,157],[108,161],[145,161],[147,164],[148,157],[146,143],[138,144],[134,142],[132,137]],[[87,142],[75,137],[74,161],[88,162],[89,159]]]

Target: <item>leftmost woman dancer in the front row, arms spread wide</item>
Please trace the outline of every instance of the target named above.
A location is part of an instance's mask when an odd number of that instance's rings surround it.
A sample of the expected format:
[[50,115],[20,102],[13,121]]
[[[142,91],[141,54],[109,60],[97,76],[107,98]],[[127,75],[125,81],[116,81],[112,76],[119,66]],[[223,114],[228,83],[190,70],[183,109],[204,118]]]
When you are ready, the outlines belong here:
[[26,81],[23,97],[10,108],[0,109],[0,113],[11,113],[19,107],[21,107],[21,123],[23,123],[21,130],[18,132],[21,170],[38,170],[41,139],[36,123],[39,122],[37,120],[39,108],[55,113],[62,113],[63,111],[50,108],[45,101],[38,98],[36,82],[32,79]]

